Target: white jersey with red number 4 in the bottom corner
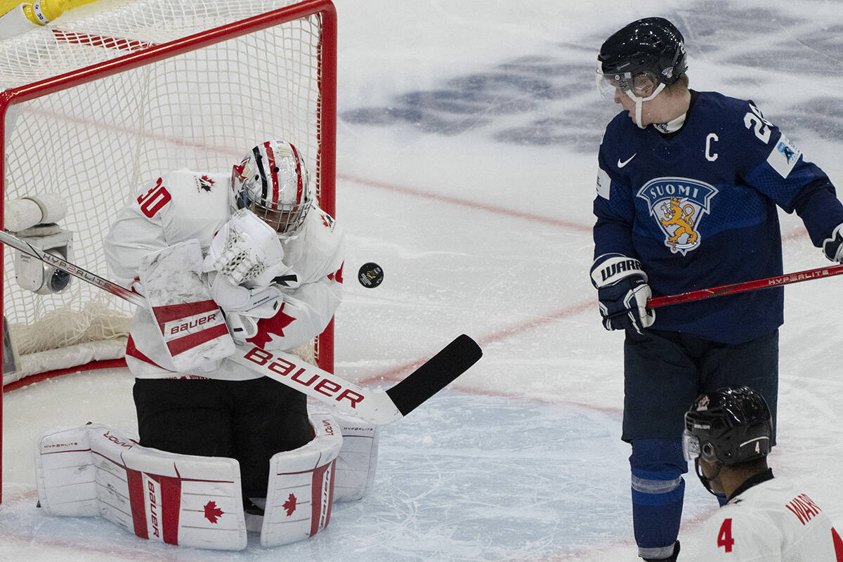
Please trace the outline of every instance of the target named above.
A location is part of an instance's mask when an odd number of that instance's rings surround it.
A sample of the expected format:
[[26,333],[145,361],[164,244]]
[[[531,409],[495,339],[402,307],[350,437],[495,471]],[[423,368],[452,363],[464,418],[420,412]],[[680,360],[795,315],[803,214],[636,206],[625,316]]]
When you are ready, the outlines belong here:
[[843,540],[825,512],[783,478],[735,496],[706,522],[706,562],[843,562]]

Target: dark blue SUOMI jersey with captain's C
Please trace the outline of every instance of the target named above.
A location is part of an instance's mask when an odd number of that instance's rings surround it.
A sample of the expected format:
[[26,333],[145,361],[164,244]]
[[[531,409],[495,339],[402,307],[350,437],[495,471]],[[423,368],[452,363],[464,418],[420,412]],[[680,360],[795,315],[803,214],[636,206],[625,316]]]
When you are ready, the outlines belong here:
[[[780,206],[815,246],[843,222],[830,180],[755,105],[692,92],[684,126],[662,135],[615,116],[599,151],[594,257],[642,262],[654,297],[779,276]],[[658,308],[654,329],[741,343],[784,320],[784,289]]]

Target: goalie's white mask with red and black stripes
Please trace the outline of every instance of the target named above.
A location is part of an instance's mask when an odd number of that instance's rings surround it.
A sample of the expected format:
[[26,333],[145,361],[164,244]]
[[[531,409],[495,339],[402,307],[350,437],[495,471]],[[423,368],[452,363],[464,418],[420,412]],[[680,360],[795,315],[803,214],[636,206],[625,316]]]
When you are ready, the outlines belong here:
[[231,186],[237,207],[254,212],[278,233],[296,233],[314,203],[304,157],[285,141],[252,148],[234,164]]

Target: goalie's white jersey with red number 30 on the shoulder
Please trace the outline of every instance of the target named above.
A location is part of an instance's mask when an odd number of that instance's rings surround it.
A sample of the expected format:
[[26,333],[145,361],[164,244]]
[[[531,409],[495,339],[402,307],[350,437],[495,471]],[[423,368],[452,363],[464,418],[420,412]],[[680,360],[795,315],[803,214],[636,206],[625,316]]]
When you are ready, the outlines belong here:
[[[231,217],[229,174],[201,174],[180,169],[164,174],[150,189],[132,195],[117,213],[105,239],[105,258],[115,281],[132,286],[144,255],[191,239],[204,251],[214,233]],[[250,343],[287,351],[312,340],[330,322],[342,300],[345,237],[341,226],[315,207],[303,227],[281,238],[284,263],[300,285],[285,289],[282,308],[258,321]],[[138,307],[126,347],[126,364],[136,377],[207,377],[245,380],[258,377],[234,361],[223,360],[212,372],[177,373],[152,313]]]

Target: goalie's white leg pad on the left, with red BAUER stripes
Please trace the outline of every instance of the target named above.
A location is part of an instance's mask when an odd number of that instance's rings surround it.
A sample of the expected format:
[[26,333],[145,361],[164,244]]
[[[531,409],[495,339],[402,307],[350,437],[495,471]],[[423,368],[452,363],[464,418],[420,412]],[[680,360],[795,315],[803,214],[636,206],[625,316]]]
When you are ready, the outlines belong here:
[[107,426],[47,431],[35,444],[40,506],[102,516],[140,538],[240,550],[246,527],[239,464],[141,447]]

